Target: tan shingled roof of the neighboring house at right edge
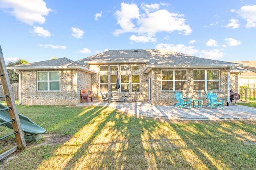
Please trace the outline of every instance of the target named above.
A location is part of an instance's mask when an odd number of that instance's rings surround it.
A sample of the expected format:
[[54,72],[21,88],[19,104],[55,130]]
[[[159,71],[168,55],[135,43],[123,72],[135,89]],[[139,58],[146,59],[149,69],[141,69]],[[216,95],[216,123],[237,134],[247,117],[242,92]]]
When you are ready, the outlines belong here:
[[256,77],[256,67],[255,67],[256,61],[230,61],[230,62],[243,64],[241,68],[247,70],[240,76],[240,78]]

